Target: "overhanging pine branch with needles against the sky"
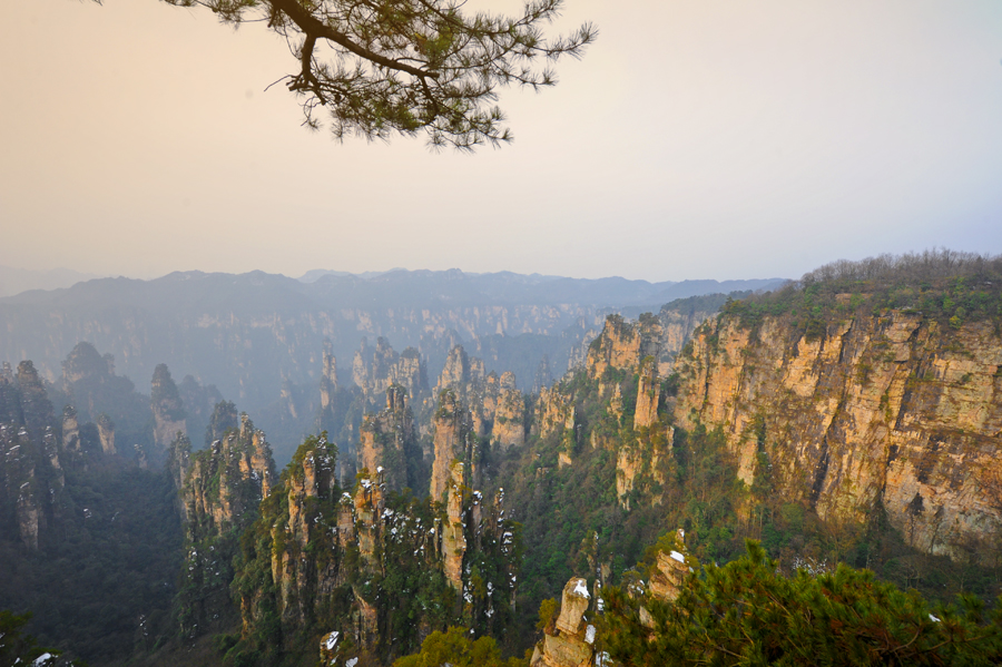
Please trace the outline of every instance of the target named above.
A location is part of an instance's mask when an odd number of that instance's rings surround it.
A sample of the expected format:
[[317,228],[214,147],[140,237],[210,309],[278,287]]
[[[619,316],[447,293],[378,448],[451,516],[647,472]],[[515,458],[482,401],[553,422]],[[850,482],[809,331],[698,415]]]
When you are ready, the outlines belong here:
[[320,127],[323,108],[338,139],[423,130],[432,146],[461,149],[511,140],[491,104],[498,87],[552,86],[550,63],[580,57],[597,35],[586,23],[543,37],[563,0],[529,0],[515,17],[470,16],[464,0],[164,1],[226,23],[263,21],[285,38],[296,70],[279,80],[302,99],[304,125]]

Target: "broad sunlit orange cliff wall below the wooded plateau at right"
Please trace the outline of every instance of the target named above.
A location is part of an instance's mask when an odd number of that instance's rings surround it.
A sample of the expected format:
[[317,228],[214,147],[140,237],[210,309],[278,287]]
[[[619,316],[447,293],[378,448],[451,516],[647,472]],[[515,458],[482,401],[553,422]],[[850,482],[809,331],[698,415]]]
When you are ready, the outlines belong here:
[[746,484],[764,435],[774,482],[827,521],[858,523],[882,506],[911,545],[951,556],[1002,524],[991,323],[857,312],[808,340],[787,318],[752,328],[725,316],[700,330],[681,369],[678,423],[721,428]]

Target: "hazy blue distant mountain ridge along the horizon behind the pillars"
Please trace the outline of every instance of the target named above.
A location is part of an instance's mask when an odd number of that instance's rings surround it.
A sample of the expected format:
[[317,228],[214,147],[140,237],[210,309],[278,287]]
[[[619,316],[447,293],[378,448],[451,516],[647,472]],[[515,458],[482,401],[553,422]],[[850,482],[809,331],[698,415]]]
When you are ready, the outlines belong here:
[[[609,313],[657,312],[681,296],[783,282],[648,283],[458,269],[326,274],[312,283],[261,271],[99,278],[0,298],[0,361],[30,359],[57,382],[62,360],[87,341],[111,354],[116,372],[137,386],[147,386],[155,366],[166,363],[177,377],[191,374],[257,411],[275,404],[286,383],[288,392],[302,386],[312,395],[307,388],[320,382],[325,345],[346,382],[362,339],[380,336],[397,351],[418,349],[431,376],[454,344],[473,341],[473,352],[501,355],[487,355],[488,371],[534,369],[547,357],[559,375]],[[532,385],[527,375],[518,377],[523,389]]]

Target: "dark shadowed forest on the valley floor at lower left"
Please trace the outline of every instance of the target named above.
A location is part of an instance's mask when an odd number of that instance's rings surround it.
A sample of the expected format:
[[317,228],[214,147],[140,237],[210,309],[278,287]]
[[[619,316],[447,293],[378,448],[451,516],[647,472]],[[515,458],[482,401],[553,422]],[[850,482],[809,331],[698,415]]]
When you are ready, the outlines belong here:
[[67,470],[59,503],[39,553],[2,526],[0,606],[31,609],[32,634],[95,664],[171,637],[181,531],[168,474],[92,460]]

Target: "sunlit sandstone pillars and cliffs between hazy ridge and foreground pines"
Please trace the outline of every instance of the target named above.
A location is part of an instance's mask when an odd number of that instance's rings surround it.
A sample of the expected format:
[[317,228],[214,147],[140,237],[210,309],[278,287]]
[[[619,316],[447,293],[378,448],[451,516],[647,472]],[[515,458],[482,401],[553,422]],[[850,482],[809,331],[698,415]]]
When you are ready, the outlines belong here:
[[[249,416],[166,365],[140,410],[88,345],[59,385],[23,362],[0,376],[2,553],[28,571],[69,527],[128,517],[92,520],[95,471],[163,470],[178,582],[169,610],[159,581],[145,620],[117,617],[129,650],[88,649],[109,664],[387,665],[450,627],[536,666],[605,664],[607,588],[641,600],[648,624],[642,600],[672,599],[745,538],[785,572],[848,562],[930,596],[991,597],[1002,281],[853,271],[607,313],[568,346],[567,373],[529,389],[451,336],[439,371],[385,337],[346,355],[321,340],[317,381],[295,390],[314,433],[282,472]],[[125,425],[132,412],[146,431]],[[23,595],[0,592],[0,606]]]

